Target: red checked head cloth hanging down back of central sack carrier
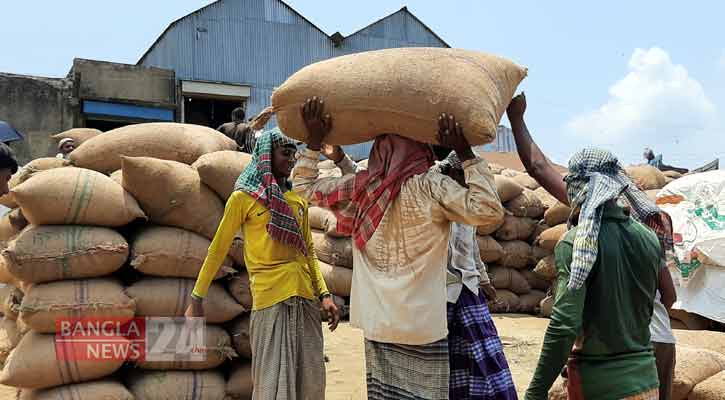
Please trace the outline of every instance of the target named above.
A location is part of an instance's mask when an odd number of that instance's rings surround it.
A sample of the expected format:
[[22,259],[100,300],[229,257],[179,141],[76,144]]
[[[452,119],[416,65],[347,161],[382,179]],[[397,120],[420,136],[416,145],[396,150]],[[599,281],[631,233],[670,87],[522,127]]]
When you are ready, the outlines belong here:
[[427,144],[398,135],[379,136],[370,151],[368,169],[358,172],[338,191],[316,200],[333,210],[338,231],[352,235],[355,246],[362,249],[403,183],[426,173],[433,161],[433,150]]

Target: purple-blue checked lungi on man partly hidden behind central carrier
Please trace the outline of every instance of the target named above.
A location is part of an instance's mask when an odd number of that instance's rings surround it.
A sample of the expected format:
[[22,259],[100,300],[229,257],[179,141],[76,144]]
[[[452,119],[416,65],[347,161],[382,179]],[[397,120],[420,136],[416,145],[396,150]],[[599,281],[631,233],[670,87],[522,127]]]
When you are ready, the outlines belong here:
[[450,400],[517,400],[503,345],[483,291],[464,287],[458,302],[448,303]]

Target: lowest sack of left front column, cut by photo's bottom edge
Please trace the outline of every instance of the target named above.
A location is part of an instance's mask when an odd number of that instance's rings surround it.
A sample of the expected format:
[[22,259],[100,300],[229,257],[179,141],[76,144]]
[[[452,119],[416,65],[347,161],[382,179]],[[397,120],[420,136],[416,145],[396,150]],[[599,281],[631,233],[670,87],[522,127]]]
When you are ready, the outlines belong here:
[[23,389],[17,400],[135,400],[120,382],[103,379],[50,389]]

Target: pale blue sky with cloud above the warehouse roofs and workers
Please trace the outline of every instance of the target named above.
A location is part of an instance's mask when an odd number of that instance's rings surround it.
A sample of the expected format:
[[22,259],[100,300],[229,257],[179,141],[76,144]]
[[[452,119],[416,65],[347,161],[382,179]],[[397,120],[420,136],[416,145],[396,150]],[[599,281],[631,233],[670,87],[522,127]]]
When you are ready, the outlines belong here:
[[[7,1],[0,71],[63,76],[74,57],[135,63],[171,21],[209,2]],[[325,32],[344,35],[407,5],[451,46],[527,66],[527,123],[558,162],[588,145],[609,148],[626,163],[639,161],[647,145],[685,167],[725,155],[725,3],[288,4]]]

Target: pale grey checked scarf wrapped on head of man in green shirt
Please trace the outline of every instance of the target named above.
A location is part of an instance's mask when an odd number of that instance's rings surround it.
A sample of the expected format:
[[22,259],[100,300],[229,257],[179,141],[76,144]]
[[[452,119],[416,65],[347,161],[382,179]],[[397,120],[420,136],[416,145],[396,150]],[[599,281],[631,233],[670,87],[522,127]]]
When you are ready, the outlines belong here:
[[[629,203],[634,216],[653,228],[665,254],[672,247],[671,223],[667,234],[667,221],[661,210],[647,195],[637,189],[624,173],[614,154],[601,149],[584,149],[569,160],[569,174],[566,181],[567,196],[571,209],[580,208],[579,223],[574,238],[574,253],[569,277],[569,289],[576,290],[584,282],[597,260],[599,251],[599,229],[602,222],[603,205],[620,196]],[[659,218],[662,217],[662,220]],[[571,217],[569,225],[571,226]],[[662,230],[657,227],[661,224]]]

